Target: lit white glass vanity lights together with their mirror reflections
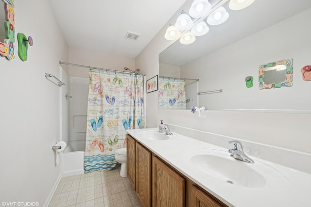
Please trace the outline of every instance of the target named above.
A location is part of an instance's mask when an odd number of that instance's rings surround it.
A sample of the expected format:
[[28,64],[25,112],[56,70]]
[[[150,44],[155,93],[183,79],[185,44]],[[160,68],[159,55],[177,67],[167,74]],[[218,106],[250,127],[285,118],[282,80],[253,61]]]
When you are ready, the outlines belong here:
[[[184,45],[195,41],[195,36],[205,35],[209,25],[219,25],[229,18],[229,13],[222,6],[228,0],[193,0],[189,15],[184,11],[177,17],[175,25],[169,26],[165,39],[177,40]],[[251,5],[255,0],[230,0],[229,8],[240,10]],[[210,3],[212,2],[212,3]],[[207,22],[207,24],[205,23]]]

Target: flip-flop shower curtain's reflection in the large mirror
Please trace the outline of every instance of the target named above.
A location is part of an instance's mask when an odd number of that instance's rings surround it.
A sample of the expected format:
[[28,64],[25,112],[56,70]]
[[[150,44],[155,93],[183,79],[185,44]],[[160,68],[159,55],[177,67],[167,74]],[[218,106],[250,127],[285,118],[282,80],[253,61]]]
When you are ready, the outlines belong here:
[[159,108],[186,109],[186,81],[175,78],[159,78]]

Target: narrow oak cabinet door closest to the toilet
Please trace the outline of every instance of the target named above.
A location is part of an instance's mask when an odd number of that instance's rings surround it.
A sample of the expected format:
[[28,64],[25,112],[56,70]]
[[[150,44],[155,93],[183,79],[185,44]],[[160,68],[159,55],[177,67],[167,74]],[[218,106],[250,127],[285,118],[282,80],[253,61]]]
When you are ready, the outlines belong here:
[[126,135],[126,154],[127,154],[127,177],[136,191],[136,140],[130,135]]

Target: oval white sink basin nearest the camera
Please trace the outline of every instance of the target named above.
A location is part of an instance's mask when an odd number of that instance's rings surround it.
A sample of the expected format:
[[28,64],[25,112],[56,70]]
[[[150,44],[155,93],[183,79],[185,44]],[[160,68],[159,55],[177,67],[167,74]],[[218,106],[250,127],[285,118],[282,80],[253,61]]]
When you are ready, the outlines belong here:
[[[213,149],[190,150],[184,155],[185,161],[204,175],[247,188],[261,188],[267,185],[263,175],[284,178],[283,174],[259,161],[246,163],[230,157],[227,151]],[[284,181],[283,180],[283,181]]]

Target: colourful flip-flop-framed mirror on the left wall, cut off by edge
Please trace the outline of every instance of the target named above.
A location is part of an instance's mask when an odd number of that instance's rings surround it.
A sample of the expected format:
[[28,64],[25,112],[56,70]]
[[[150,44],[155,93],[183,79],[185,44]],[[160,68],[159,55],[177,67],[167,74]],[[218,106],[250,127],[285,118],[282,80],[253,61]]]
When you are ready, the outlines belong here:
[[3,22],[4,26],[0,26],[0,55],[6,57],[7,60],[12,60],[15,42],[15,3],[14,0],[2,1],[4,9],[0,9],[0,22]]

